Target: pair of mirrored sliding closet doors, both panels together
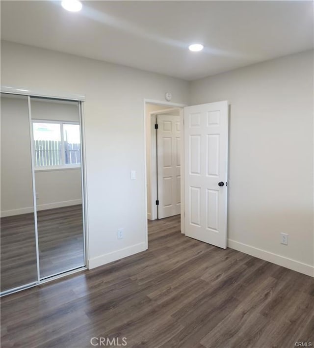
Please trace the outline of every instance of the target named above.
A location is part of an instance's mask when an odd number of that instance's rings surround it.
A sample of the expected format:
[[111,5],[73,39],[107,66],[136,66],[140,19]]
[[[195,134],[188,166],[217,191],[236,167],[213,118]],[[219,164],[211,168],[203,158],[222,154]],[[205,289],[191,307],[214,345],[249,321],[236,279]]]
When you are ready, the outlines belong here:
[[85,266],[80,104],[1,94],[1,293]]

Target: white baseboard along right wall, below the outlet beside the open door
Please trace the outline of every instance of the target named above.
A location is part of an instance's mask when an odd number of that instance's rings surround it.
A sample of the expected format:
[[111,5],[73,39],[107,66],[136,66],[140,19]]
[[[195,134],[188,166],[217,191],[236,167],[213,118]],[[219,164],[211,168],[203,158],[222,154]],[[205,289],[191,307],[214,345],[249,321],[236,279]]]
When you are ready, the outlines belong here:
[[304,264],[302,262],[292,260],[292,259],[289,259],[288,257],[274,254],[269,251],[262,250],[251,245],[243,244],[238,241],[233,241],[231,239],[227,240],[227,246],[232,249],[241,251],[245,254],[255,256],[259,259],[272,262],[273,264],[286,267],[286,268],[295,270],[297,272],[314,277],[314,266]]

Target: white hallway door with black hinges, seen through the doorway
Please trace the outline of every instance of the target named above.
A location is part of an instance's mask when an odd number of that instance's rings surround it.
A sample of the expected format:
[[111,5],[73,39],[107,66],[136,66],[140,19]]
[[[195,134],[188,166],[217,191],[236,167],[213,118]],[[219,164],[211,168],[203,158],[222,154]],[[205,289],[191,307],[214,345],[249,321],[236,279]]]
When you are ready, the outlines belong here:
[[180,116],[157,115],[158,219],[180,214]]

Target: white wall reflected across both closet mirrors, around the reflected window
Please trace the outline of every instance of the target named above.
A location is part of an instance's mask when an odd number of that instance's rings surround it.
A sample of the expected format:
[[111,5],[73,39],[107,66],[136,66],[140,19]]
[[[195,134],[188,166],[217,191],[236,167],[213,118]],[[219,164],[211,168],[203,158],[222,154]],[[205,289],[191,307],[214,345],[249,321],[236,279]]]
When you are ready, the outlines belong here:
[[[33,119],[79,121],[78,103],[31,100]],[[37,210],[81,203],[80,168],[35,171]],[[28,104],[1,98],[1,216],[34,211]]]

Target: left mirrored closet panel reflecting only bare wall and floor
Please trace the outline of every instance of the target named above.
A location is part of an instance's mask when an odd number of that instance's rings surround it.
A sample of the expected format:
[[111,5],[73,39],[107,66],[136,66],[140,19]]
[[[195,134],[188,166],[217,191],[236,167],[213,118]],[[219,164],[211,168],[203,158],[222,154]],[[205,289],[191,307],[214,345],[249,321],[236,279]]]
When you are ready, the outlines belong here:
[[28,102],[1,93],[0,290],[37,281]]

